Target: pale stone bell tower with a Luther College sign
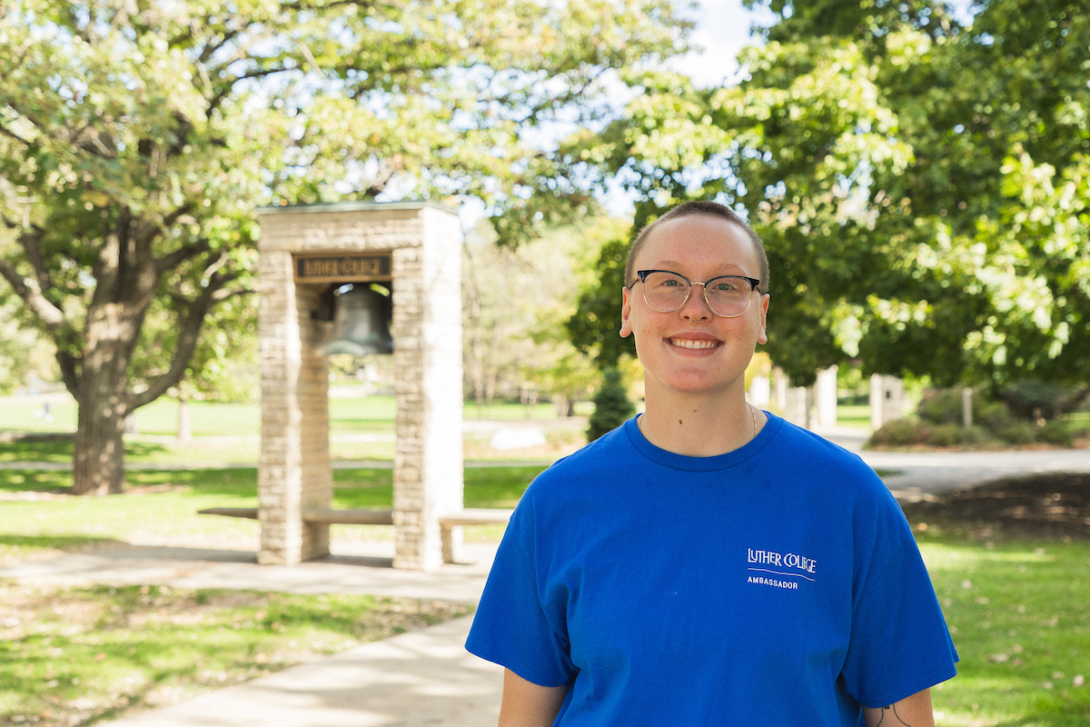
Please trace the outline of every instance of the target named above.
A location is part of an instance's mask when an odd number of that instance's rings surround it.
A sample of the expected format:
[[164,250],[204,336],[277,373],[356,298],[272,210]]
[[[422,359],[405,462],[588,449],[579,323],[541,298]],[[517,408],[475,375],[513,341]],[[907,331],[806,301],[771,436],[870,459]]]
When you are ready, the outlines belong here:
[[[389,522],[396,568],[438,567],[439,518],[462,508],[456,211],[427,202],[350,202],[265,207],[258,220],[258,561],[292,565],[327,555],[330,523]],[[384,305],[392,316],[397,369],[393,510],[337,511],[330,508],[328,353],[388,350],[378,325]],[[446,545],[449,559],[453,546]]]

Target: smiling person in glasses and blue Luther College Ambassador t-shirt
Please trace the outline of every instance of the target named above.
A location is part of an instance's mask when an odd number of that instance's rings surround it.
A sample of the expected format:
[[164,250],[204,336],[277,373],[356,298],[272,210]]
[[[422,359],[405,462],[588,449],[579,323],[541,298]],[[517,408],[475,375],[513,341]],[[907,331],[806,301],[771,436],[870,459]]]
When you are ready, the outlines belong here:
[[528,487],[467,640],[505,667],[501,727],[933,725],[957,653],[896,500],[746,401],[768,278],[715,203],[633,242],[645,412]]

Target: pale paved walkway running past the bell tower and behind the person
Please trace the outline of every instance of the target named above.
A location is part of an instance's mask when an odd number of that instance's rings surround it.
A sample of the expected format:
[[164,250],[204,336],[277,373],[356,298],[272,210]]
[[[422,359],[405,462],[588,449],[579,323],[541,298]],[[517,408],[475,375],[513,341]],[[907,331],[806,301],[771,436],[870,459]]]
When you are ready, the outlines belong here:
[[[851,432],[826,433],[857,449]],[[853,438],[855,437],[855,438]],[[886,484],[912,499],[1028,473],[1090,472],[1090,450],[1027,452],[860,452],[893,472]],[[72,554],[0,569],[10,578],[53,583],[149,583],[298,593],[366,593],[476,603],[495,544],[465,544],[473,565],[433,573],[390,567],[391,543],[291,568],[258,566],[241,550],[136,547]],[[368,550],[370,548],[370,550]],[[462,647],[471,618],[364,644],[173,706],[136,714],[111,727],[480,727],[499,712],[501,669]]]

